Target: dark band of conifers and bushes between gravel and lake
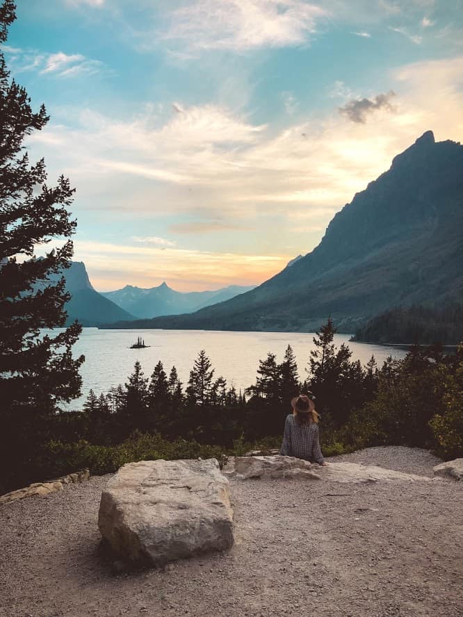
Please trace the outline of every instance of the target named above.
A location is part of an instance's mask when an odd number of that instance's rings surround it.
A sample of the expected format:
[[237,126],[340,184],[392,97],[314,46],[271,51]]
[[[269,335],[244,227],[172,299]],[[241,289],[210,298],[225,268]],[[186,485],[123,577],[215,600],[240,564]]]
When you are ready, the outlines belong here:
[[[127,383],[90,395],[82,411],[56,413],[35,451],[11,468],[3,491],[36,479],[90,467],[101,474],[129,461],[216,456],[279,447],[291,398],[308,393],[321,415],[325,456],[373,445],[429,447],[441,456],[463,455],[463,346],[414,347],[381,367],[352,360],[333,343],[329,320],[314,337],[305,379],[287,347],[282,361],[269,353],[245,392],[216,377],[201,351],[186,384],[159,362],[146,377],[136,362]],[[34,430],[34,427],[27,427]],[[22,453],[25,454],[25,453]]]

